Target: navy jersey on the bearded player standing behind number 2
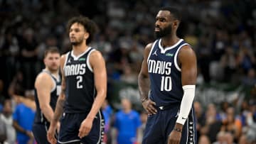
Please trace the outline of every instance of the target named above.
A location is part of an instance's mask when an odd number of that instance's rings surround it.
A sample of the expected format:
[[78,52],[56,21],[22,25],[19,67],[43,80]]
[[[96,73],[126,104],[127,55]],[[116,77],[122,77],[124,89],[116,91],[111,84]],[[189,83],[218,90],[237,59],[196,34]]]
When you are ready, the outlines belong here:
[[[50,77],[53,79],[54,82],[54,87],[50,92],[50,107],[53,109],[53,111],[55,110],[55,106],[56,106],[56,102],[58,100],[58,96],[60,95],[60,91],[61,91],[61,79],[60,79],[60,75],[58,75],[58,78],[54,77],[53,74],[51,74],[48,70],[43,70],[42,72],[46,72],[47,74],[50,75]],[[36,116],[35,116],[35,123],[49,123],[50,121],[48,121],[46,119],[46,117],[43,115],[41,109],[40,109],[40,105],[39,105],[39,101],[38,101],[38,94],[37,91],[35,89],[35,101],[36,101]]]

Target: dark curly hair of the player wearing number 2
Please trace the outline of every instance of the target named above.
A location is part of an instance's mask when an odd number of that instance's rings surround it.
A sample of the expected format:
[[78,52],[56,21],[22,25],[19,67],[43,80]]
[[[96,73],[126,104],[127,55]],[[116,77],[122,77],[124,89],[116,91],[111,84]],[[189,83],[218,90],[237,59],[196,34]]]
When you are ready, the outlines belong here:
[[89,38],[87,38],[87,40],[86,40],[86,44],[91,43],[95,36],[95,33],[97,32],[96,23],[94,21],[90,20],[90,18],[87,18],[85,16],[76,16],[76,17],[70,18],[70,20],[68,21],[68,25],[67,25],[68,33],[70,31],[70,27],[74,23],[79,23],[82,26],[84,26],[85,30],[90,34]]

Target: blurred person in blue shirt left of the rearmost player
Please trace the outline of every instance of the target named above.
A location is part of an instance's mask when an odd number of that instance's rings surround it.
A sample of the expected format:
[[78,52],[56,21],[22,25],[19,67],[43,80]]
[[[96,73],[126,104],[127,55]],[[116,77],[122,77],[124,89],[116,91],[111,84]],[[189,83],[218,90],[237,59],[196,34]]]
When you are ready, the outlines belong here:
[[[33,92],[33,91],[31,91]],[[34,99],[33,94],[26,91],[26,97]],[[13,113],[14,117],[14,128],[17,132],[17,142],[20,144],[31,144],[33,143],[32,125],[35,116],[35,111],[20,103],[16,106]]]

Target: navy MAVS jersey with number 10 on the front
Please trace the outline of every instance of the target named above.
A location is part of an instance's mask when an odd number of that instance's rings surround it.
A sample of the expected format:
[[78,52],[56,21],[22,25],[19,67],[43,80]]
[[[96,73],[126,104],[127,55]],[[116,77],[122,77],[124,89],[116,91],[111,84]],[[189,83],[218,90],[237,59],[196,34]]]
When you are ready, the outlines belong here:
[[152,45],[147,60],[151,82],[149,99],[156,102],[156,106],[181,104],[183,89],[177,55],[183,45],[188,45],[183,39],[165,49],[161,46],[161,39]]

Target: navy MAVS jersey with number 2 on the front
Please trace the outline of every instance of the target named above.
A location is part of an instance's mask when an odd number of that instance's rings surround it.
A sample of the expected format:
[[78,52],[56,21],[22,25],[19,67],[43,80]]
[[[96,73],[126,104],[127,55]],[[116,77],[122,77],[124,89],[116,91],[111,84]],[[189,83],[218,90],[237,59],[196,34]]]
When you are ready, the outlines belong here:
[[66,55],[63,67],[65,74],[65,113],[86,113],[90,111],[96,96],[94,74],[90,66],[90,53],[95,50],[88,48],[79,56],[73,51]]

